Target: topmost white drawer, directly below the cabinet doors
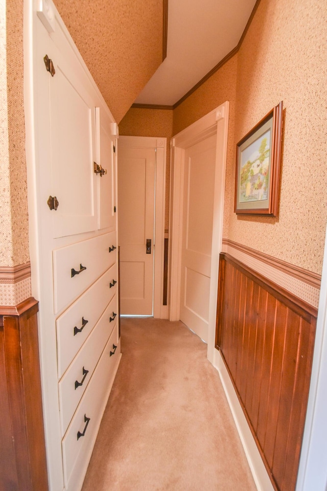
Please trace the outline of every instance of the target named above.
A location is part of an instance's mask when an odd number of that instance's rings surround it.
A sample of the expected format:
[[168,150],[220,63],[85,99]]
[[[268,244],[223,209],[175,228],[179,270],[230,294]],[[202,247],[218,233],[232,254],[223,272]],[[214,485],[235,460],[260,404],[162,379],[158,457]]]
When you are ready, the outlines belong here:
[[116,262],[116,247],[116,232],[111,232],[53,251],[55,314]]

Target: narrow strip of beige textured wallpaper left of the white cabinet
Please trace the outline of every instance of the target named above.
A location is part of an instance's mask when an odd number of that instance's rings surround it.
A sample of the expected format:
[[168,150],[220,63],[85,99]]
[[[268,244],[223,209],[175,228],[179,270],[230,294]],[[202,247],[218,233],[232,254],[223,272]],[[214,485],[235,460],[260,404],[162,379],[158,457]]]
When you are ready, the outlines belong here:
[[[1,5],[2,9],[6,9],[4,2]],[[7,2],[7,10],[4,10],[1,15],[0,266],[24,264],[29,260],[22,78],[22,9],[22,0],[10,0]],[[5,19],[6,30],[3,29]],[[4,35],[7,49],[3,44]]]

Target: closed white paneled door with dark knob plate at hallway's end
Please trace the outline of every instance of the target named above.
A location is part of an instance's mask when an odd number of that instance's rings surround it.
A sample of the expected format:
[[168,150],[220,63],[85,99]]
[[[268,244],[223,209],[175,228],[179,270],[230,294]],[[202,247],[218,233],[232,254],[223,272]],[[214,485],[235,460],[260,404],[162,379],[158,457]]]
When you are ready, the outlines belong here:
[[154,148],[119,147],[121,314],[153,315]]

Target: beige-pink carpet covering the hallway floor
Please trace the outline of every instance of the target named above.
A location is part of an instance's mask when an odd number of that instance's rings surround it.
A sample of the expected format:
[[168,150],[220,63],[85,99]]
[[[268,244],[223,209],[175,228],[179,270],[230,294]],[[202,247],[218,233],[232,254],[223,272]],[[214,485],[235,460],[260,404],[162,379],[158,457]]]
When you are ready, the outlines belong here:
[[255,491],[206,345],[124,318],[122,353],[82,491]]

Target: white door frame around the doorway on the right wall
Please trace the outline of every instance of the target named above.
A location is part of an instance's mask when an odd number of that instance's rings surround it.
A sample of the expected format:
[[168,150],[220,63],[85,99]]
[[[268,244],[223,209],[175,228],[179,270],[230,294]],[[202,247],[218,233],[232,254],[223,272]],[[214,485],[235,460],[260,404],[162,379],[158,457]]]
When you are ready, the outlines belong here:
[[183,129],[170,142],[171,182],[169,220],[169,292],[168,318],[178,321],[180,315],[181,252],[183,223],[183,182],[185,149],[212,135],[217,136],[214,191],[214,220],[211,255],[209,326],[207,357],[214,361],[218,293],[219,254],[222,250],[225,174],[227,157],[229,102]]

